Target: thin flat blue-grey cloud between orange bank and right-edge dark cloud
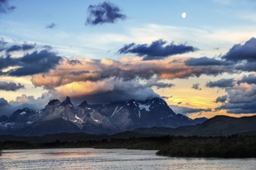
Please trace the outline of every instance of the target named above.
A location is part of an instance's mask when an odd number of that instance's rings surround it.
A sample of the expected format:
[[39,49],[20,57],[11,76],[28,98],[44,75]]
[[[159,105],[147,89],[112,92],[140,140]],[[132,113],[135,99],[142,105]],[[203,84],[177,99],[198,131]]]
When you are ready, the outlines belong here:
[[206,56],[201,58],[191,58],[185,61],[185,65],[187,66],[223,66],[229,65],[226,61],[219,59],[210,59]]

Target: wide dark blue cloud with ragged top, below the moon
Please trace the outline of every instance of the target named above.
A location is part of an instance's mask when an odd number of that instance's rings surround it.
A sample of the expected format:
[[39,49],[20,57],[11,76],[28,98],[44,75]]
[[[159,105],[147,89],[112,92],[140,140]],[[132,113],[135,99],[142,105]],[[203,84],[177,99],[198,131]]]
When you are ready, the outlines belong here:
[[119,49],[118,53],[134,53],[138,56],[144,56],[144,60],[151,60],[164,59],[165,57],[173,56],[175,54],[189,53],[197,50],[193,46],[186,46],[184,44],[175,45],[173,42],[166,45],[166,43],[167,42],[163,39],[158,39],[150,45],[130,43]]

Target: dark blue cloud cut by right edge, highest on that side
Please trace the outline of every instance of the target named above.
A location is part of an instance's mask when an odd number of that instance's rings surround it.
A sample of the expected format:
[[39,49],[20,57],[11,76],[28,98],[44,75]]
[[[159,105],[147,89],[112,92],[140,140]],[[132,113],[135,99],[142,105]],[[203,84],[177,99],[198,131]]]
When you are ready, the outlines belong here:
[[256,60],[256,39],[251,38],[244,45],[236,44],[229,52],[222,57],[231,61],[255,61]]

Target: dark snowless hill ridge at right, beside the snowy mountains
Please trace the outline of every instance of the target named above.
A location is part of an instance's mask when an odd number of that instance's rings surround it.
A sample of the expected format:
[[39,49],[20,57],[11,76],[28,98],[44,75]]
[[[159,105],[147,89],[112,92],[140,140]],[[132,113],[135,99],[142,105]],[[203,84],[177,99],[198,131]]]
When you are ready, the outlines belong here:
[[182,136],[227,136],[232,134],[250,134],[256,131],[256,115],[250,117],[228,117],[217,115],[202,124],[195,124],[192,126],[178,128],[139,128],[134,131],[140,134],[168,134]]

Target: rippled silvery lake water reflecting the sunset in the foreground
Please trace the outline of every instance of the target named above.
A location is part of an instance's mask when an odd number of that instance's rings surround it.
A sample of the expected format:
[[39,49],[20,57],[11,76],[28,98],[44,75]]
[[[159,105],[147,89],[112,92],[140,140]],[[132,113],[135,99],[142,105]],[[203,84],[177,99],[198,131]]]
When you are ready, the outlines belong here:
[[256,158],[168,158],[126,149],[5,150],[0,169],[255,169]]

